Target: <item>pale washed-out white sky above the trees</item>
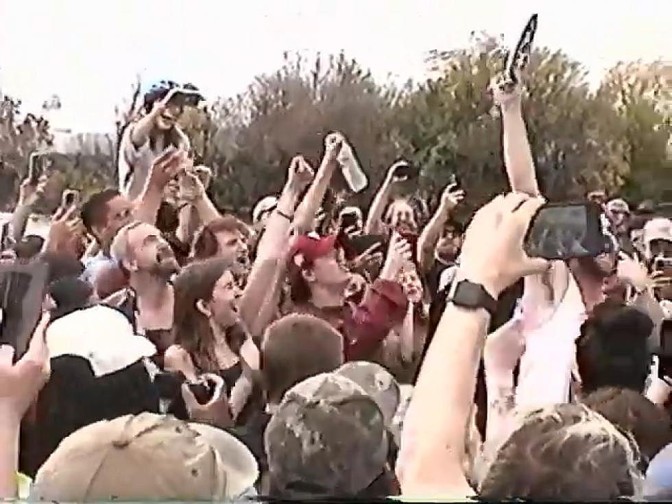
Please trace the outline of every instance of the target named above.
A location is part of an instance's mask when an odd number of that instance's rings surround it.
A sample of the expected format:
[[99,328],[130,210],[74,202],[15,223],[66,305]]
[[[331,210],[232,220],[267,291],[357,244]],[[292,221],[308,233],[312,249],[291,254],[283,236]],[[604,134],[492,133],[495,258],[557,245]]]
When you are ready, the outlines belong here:
[[[597,81],[619,60],[672,60],[672,0],[0,0],[0,86],[55,121],[113,128],[134,75],[191,81],[208,97],[242,91],[284,49],[345,49],[374,75],[422,77],[429,49],[472,30],[516,38],[539,14],[538,45],[562,47]],[[56,118],[54,118],[56,119]]]

